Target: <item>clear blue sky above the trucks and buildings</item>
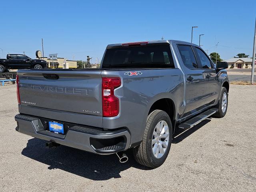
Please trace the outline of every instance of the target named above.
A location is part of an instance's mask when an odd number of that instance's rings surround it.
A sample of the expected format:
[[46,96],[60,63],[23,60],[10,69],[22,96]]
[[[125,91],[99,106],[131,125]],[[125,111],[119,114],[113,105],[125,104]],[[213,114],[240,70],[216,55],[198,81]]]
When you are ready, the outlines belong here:
[[86,60],[102,59],[107,44],[176,39],[201,44],[214,52],[215,35],[222,59],[238,53],[252,56],[256,1],[2,1],[0,57],[22,53]]

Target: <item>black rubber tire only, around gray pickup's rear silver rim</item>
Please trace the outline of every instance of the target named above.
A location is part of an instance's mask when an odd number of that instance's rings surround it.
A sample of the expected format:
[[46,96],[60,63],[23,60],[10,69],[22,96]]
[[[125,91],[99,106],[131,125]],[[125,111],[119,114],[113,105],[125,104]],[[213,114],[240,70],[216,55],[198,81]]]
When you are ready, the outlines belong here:
[[[153,146],[152,136],[156,128],[156,125],[158,124],[158,122],[162,120],[168,124],[169,138],[168,138],[168,144],[167,144],[167,147],[165,148],[166,150],[163,156],[160,158],[156,158],[152,150],[152,146]],[[139,164],[150,167],[150,168],[157,168],[161,166],[166,160],[170,151],[171,144],[172,144],[172,122],[170,120],[170,117],[166,112],[162,110],[154,110],[148,115],[142,142],[140,143],[140,145],[133,148],[133,155],[135,160]]]

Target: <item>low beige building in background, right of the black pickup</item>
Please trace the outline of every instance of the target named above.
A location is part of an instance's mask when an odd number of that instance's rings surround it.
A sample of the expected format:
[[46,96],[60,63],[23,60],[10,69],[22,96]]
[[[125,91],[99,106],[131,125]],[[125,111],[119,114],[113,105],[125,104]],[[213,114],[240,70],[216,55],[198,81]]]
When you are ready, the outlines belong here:
[[[63,64],[65,64],[64,58],[57,58],[57,60],[53,60],[53,63],[52,60],[47,57],[42,57],[40,59],[47,61],[48,68],[63,68]],[[66,66],[68,66],[68,68],[77,68],[77,61],[66,60]]]

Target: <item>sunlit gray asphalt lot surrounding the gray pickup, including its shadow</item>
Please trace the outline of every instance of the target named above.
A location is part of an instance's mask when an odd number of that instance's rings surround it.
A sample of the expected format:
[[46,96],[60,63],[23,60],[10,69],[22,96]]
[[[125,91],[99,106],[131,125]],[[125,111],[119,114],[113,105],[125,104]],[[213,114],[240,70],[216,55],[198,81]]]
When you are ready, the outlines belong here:
[[256,191],[256,86],[230,85],[228,112],[176,134],[156,169],[15,131],[16,85],[0,87],[1,191]]

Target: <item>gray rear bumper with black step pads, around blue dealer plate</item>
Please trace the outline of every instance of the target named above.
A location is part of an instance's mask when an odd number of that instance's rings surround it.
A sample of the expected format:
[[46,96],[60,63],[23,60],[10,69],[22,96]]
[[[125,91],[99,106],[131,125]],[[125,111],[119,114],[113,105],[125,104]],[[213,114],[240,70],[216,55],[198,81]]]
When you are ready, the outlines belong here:
[[36,117],[17,114],[15,120],[18,132],[96,154],[113,154],[128,149],[130,145],[130,134],[126,129],[104,131],[73,126],[62,135],[45,130]]

